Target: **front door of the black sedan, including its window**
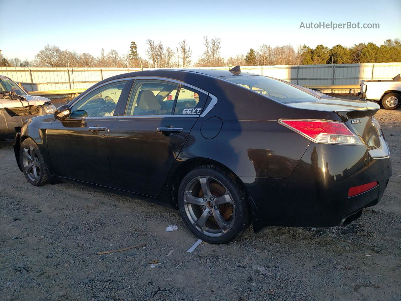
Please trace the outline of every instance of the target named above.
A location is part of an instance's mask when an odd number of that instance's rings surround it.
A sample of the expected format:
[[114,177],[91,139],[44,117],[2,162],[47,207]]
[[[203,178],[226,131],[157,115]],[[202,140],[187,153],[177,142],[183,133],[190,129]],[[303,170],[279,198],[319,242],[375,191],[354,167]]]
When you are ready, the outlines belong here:
[[117,102],[123,101],[125,86],[127,81],[119,80],[89,91],[71,106],[67,119],[55,120],[49,126],[46,139],[54,175],[115,187],[107,134],[116,119]]

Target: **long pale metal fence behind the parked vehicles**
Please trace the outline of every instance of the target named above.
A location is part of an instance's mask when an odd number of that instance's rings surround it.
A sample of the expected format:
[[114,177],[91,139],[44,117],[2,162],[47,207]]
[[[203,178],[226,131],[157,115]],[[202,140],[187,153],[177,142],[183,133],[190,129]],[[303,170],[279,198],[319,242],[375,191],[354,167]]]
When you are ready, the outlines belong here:
[[[148,70],[149,68],[144,68]],[[229,69],[228,67],[191,69]],[[244,66],[242,71],[276,77],[303,86],[358,85],[360,80],[389,80],[401,73],[401,63],[340,65]],[[139,68],[0,67],[0,75],[21,83],[28,91],[86,89],[107,77]]]

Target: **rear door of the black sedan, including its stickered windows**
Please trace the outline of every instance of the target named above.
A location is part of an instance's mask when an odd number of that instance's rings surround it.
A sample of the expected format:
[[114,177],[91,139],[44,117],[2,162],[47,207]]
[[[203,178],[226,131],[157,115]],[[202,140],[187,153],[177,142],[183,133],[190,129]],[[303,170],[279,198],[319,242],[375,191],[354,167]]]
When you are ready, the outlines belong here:
[[206,100],[207,93],[192,86],[136,79],[124,116],[109,130],[117,188],[157,197]]

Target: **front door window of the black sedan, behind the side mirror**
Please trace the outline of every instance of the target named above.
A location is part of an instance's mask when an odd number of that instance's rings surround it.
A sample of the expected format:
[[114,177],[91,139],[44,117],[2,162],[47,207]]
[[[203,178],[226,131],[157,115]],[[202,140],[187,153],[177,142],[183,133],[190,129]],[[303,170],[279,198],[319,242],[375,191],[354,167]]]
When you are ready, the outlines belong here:
[[70,117],[113,116],[126,82],[109,83],[85,95],[71,108]]

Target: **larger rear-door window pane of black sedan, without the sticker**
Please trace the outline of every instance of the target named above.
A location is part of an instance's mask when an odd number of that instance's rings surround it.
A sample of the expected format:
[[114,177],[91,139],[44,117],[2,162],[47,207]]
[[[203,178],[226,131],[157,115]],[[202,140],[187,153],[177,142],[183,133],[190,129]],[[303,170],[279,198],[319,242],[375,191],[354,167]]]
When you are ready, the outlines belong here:
[[177,90],[176,83],[137,79],[131,90],[126,115],[171,115]]

